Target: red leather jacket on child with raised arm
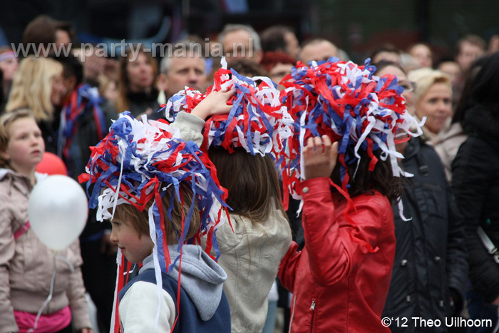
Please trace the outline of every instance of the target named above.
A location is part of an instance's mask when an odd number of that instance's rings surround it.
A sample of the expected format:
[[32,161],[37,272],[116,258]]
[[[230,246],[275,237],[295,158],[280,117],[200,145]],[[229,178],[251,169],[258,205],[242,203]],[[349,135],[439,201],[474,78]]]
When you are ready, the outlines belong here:
[[351,219],[361,237],[379,247],[369,252],[352,239],[346,200],[331,194],[329,178],[305,180],[299,191],[305,247],[297,251],[292,242],[278,274],[293,292],[291,332],[390,332],[381,324],[395,255],[389,200],[376,191],[352,198]]

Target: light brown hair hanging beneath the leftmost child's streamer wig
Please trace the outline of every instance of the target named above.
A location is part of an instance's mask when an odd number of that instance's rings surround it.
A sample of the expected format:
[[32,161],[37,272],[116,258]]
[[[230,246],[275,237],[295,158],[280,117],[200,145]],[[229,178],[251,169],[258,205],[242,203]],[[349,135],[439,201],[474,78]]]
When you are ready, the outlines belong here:
[[[177,244],[178,238],[180,238],[180,234],[182,232],[182,214],[187,217],[190,206],[192,205],[192,190],[190,190],[189,185],[185,183],[180,183],[180,195],[183,199],[183,207],[182,203],[176,198],[176,195],[173,191],[173,186],[170,186],[167,190],[165,190],[165,194],[163,195],[163,216],[165,216],[165,235],[166,241],[169,245]],[[171,212],[172,218],[168,217],[168,207],[170,206],[170,199],[172,195],[175,196],[173,199],[173,209]],[[134,205],[121,204],[116,206],[115,217],[121,222],[128,223],[130,222],[131,226],[137,230],[139,235],[149,235],[149,208],[153,205],[153,200],[151,200],[147,205],[145,205],[144,210],[139,210],[135,208]],[[187,235],[185,237],[186,240],[194,237],[197,232],[199,232],[201,225],[201,216],[200,210],[197,208],[195,203],[194,210],[192,212],[192,218],[190,220],[189,230],[187,231]]]

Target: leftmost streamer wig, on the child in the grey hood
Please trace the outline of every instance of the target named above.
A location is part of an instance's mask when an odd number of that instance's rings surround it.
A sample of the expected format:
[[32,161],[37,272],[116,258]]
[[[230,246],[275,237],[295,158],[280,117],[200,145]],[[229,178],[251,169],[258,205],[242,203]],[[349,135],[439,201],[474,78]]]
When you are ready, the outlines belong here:
[[[175,138],[177,137],[177,138]],[[110,132],[98,145],[91,147],[92,155],[79,180],[86,182],[89,193],[89,207],[97,208],[97,220],[112,219],[116,205],[133,205],[145,210],[148,203],[149,232],[154,242],[153,260],[158,297],[161,292],[161,272],[168,272],[175,262],[170,261],[165,235],[165,216],[163,216],[163,195],[173,188],[170,205],[166,210],[171,220],[173,202],[177,200],[183,207],[181,183],[187,183],[192,190],[192,205],[187,215],[182,213],[182,232],[178,235],[178,250],[187,241],[194,205],[200,211],[200,234],[207,234],[205,251],[210,253],[215,247],[218,255],[215,230],[225,222],[225,198],[227,193],[220,186],[215,167],[192,141],[178,139],[178,129],[170,127],[165,121],[138,121],[129,112],[120,114],[110,126]],[[183,210],[182,210],[183,212]],[[168,220],[167,220],[168,221]],[[199,241],[200,238],[197,237]],[[177,261],[178,258],[175,259]],[[122,256],[118,252],[119,292],[123,281]],[[171,265],[171,266],[170,266]],[[120,286],[121,285],[121,286]],[[120,286],[120,287],[118,287]],[[180,287],[180,283],[179,283]],[[114,311],[116,309],[116,304]],[[158,324],[158,314],[156,324]],[[115,316],[113,315],[113,320]],[[118,327],[115,322],[115,327]]]

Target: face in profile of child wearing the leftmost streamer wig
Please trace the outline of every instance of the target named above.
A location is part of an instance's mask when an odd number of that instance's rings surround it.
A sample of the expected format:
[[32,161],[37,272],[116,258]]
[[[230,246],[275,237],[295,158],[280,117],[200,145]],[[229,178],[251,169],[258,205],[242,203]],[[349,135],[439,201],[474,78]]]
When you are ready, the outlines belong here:
[[140,235],[130,222],[114,218],[111,225],[111,241],[118,245],[129,262],[142,262],[153,252],[153,240],[149,235]]

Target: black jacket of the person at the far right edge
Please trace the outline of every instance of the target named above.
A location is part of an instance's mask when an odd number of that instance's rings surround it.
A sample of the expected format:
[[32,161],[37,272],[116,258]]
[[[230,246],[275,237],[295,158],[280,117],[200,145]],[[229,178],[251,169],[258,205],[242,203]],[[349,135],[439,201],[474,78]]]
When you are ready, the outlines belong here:
[[465,219],[470,280],[486,302],[499,296],[499,265],[480,242],[480,225],[499,245],[499,119],[483,106],[466,112],[469,137],[453,162],[452,185]]

